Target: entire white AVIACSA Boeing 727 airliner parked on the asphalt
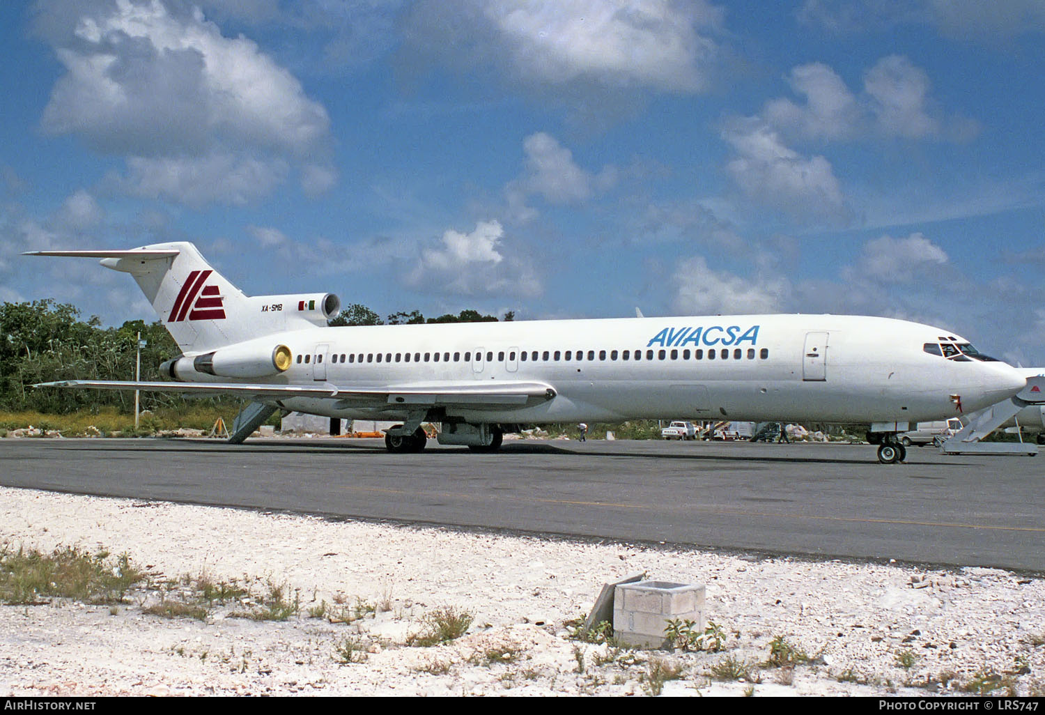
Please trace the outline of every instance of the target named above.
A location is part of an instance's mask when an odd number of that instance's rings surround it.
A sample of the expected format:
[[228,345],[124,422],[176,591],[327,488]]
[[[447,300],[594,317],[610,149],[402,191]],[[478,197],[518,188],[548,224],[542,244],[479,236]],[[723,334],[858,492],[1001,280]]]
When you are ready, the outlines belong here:
[[[331,294],[248,297],[192,244],[37,251],[100,258],[130,273],[183,354],[172,382],[69,380],[38,387],[231,394],[251,400],[242,441],[276,410],[401,420],[392,452],[441,444],[492,451],[505,432],[549,422],[697,419],[867,422],[896,434],[1007,399],[1026,386],[949,330],[833,315],[555,320],[327,327]],[[960,354],[955,360],[951,351]],[[951,358],[951,359],[948,359]]]

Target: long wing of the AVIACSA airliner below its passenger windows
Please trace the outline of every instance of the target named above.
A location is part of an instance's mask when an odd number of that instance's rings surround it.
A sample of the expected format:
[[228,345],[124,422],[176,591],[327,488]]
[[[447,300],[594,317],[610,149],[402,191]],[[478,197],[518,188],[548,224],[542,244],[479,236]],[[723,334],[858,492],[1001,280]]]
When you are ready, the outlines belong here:
[[141,390],[143,392],[180,392],[188,395],[234,395],[256,401],[292,397],[339,400],[339,408],[384,407],[419,409],[427,407],[467,407],[505,409],[539,405],[555,397],[544,383],[501,382],[439,383],[433,385],[387,385],[377,387],[341,387],[322,385],[245,385],[242,383],[136,383],[134,380],[68,379],[40,383],[36,388],[61,387],[90,390]]

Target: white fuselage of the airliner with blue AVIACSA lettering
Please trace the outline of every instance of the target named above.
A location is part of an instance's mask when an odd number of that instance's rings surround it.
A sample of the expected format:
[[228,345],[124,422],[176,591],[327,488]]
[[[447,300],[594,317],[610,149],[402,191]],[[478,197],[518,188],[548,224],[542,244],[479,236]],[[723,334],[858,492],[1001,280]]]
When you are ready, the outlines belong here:
[[[240,344],[262,351],[283,344],[294,362],[265,380],[238,382],[362,388],[526,380],[554,388],[554,399],[531,407],[446,411],[469,422],[511,423],[678,417],[915,422],[960,416],[1024,385],[1004,363],[954,362],[923,349],[946,337],[946,330],[907,321],[832,315],[326,327]],[[269,401],[331,417],[407,415],[392,406],[357,408],[336,398]]]

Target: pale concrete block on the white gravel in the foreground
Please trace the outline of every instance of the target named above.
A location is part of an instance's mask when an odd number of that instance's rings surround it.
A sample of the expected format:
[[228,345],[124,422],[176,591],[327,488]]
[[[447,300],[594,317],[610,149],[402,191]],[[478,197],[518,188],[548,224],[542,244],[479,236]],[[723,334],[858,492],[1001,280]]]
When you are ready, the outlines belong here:
[[613,638],[623,645],[665,648],[671,620],[690,620],[704,629],[704,586],[673,581],[636,581],[616,586]]

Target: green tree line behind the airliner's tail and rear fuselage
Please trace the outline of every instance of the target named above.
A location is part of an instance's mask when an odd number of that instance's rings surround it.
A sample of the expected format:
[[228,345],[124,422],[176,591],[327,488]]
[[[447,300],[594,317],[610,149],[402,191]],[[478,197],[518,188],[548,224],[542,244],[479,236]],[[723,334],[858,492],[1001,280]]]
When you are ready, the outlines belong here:
[[[513,320],[514,312],[504,316]],[[496,322],[495,316],[461,310],[425,319],[419,310],[380,316],[358,303],[348,305],[329,321],[341,325],[402,325],[421,323]],[[141,379],[162,379],[160,365],[181,353],[163,323],[129,320],[119,327],[102,327],[101,320],[82,318],[78,308],[51,299],[0,305],[0,410],[66,414],[114,406],[134,410],[127,390],[34,390],[37,383],[65,379],[134,379],[138,335]],[[176,407],[185,398],[164,393],[142,393],[142,409]]]

